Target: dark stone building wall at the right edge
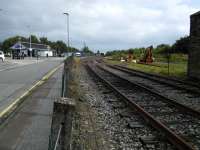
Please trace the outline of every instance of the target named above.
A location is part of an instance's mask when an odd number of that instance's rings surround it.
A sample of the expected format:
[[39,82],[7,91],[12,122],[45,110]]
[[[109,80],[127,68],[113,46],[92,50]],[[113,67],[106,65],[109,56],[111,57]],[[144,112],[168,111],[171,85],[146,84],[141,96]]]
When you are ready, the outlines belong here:
[[188,76],[200,79],[200,11],[190,16]]

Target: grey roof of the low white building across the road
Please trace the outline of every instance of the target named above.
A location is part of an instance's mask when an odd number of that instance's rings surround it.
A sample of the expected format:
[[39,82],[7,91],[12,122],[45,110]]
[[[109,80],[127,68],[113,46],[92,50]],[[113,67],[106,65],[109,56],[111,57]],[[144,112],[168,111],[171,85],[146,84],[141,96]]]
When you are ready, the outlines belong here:
[[37,44],[37,43],[28,43],[28,42],[17,42],[11,47],[11,49],[37,49],[37,50],[49,50],[51,49],[49,45]]

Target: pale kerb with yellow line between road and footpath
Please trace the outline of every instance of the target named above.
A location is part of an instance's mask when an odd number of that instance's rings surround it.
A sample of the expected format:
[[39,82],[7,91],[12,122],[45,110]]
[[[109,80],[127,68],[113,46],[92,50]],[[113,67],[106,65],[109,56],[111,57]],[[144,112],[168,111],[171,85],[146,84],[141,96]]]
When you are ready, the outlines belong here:
[[3,111],[1,111],[0,125],[20,106],[20,104],[24,101],[24,99],[27,96],[29,96],[37,87],[44,84],[46,80],[49,79],[61,66],[62,64],[49,71],[46,75],[43,76],[41,80],[39,80],[31,88],[26,90],[21,96],[13,100],[13,102],[8,107],[6,107]]

